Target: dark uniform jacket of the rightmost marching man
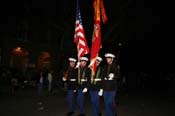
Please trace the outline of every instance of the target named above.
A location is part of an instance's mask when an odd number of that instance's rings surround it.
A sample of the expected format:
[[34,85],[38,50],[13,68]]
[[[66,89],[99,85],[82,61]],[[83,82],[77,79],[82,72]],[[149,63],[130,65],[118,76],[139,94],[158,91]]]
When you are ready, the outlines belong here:
[[[114,78],[112,80],[109,79],[110,73],[114,74]],[[111,65],[106,64],[103,70],[104,91],[116,91],[118,78],[119,78],[119,69],[117,65],[114,62]]]

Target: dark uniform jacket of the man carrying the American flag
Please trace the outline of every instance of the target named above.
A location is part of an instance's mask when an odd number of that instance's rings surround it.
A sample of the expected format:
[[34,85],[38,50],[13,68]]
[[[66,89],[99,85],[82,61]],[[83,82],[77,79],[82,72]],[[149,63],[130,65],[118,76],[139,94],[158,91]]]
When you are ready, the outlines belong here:
[[80,81],[78,82],[77,89],[89,88],[89,83],[91,79],[90,68],[86,66],[86,67],[80,68],[79,70],[80,70]]

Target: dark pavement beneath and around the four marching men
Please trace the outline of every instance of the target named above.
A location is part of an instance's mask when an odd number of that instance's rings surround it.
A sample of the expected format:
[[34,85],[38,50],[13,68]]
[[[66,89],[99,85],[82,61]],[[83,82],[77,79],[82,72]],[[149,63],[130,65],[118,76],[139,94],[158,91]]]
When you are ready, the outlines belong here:
[[[76,96],[76,95],[75,95]],[[66,92],[55,90],[37,95],[34,89],[18,90],[13,94],[0,95],[0,116],[66,116]],[[175,116],[175,94],[167,91],[140,90],[119,92],[118,116]],[[92,115],[88,93],[85,100],[86,116]],[[78,115],[75,103],[75,115]],[[105,116],[102,100],[102,113]]]

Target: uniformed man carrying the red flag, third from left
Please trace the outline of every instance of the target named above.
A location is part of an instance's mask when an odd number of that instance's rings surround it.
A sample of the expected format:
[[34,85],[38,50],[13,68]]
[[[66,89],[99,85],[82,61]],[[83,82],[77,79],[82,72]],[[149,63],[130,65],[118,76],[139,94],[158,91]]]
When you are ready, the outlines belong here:
[[[89,87],[90,98],[93,108],[93,116],[101,116],[100,109],[100,96],[102,96],[102,67],[100,63],[102,61],[101,57],[96,58],[96,72],[95,75],[91,77],[91,83]],[[99,96],[100,95],[100,96]]]

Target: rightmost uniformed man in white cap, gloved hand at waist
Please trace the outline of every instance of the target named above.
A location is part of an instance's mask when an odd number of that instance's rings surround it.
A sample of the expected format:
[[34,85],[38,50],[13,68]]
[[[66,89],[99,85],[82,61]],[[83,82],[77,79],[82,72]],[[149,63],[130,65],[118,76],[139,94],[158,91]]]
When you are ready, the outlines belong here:
[[118,67],[114,62],[115,55],[106,53],[106,62],[103,71],[103,97],[105,103],[106,116],[116,116],[115,96],[117,89]]

